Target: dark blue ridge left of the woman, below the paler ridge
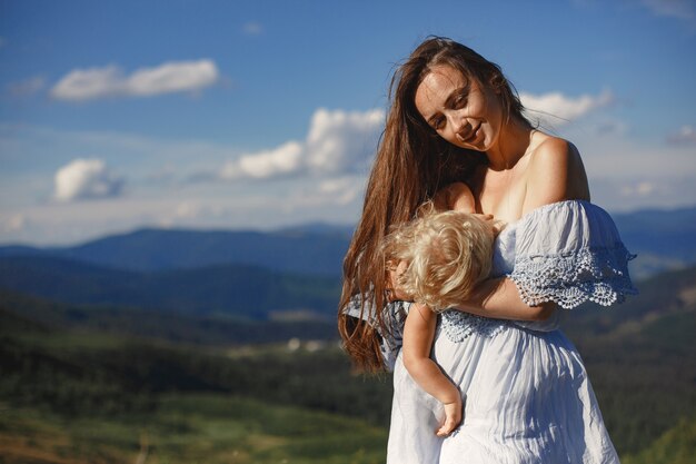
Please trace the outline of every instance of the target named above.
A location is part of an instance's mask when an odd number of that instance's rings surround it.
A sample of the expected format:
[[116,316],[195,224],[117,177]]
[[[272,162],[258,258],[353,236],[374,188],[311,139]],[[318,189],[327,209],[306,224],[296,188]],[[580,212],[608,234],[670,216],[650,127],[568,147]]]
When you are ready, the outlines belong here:
[[0,258],[0,288],[57,302],[266,318],[271,312],[336,312],[337,277],[218,265],[120,270],[50,256]]

